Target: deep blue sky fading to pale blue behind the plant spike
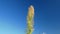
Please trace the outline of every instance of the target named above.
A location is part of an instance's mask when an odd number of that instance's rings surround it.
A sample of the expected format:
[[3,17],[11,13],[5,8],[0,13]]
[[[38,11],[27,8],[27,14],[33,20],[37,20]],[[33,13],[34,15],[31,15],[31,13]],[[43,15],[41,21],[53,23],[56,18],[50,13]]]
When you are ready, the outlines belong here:
[[0,34],[26,34],[28,7],[34,6],[33,34],[60,34],[60,0],[0,0]]

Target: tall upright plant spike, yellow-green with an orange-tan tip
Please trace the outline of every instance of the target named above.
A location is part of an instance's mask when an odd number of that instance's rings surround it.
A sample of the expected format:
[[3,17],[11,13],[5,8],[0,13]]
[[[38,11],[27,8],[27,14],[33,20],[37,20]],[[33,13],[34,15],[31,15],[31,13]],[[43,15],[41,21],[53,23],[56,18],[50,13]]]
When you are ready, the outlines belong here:
[[28,9],[28,16],[27,16],[27,34],[32,34],[33,32],[33,18],[34,18],[34,7],[31,5]]

